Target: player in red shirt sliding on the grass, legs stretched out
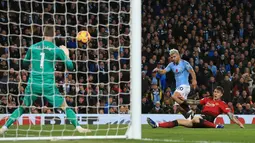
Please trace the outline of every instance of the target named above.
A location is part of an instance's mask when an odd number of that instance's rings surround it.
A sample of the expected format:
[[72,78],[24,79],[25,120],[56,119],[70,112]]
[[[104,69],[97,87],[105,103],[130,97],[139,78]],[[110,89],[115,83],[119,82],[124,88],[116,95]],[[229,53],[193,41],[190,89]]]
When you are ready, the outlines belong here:
[[176,126],[184,126],[188,128],[224,128],[223,125],[214,124],[214,119],[222,113],[228,115],[228,117],[238,124],[241,128],[244,128],[243,124],[231,113],[228,105],[221,101],[223,95],[223,88],[218,86],[213,92],[213,97],[203,98],[201,100],[187,100],[189,104],[201,104],[204,105],[202,114],[200,117],[194,117],[192,120],[178,119],[170,122],[157,123],[150,118],[147,118],[148,124],[153,128],[173,128]]

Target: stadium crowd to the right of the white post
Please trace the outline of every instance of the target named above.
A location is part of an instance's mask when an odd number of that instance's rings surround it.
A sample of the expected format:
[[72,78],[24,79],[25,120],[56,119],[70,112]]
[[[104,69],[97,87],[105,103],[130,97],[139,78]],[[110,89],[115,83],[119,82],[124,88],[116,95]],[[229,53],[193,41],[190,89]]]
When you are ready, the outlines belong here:
[[211,96],[220,85],[234,113],[255,114],[254,7],[251,0],[143,1],[142,112],[179,112],[173,73],[152,72],[168,65],[175,48],[196,72],[199,88],[189,98]]

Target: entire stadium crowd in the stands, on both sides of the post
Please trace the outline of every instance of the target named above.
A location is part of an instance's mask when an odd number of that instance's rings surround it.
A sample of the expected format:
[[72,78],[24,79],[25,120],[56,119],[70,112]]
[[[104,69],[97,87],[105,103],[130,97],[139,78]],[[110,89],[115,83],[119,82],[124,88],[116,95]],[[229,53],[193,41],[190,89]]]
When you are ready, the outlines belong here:
[[[22,58],[42,40],[42,24],[56,25],[55,42],[67,45],[76,65],[68,73],[63,63],[56,66],[56,83],[68,105],[77,113],[129,112],[129,1],[9,4],[0,3],[0,113],[12,113],[21,104],[29,76]],[[176,48],[197,75],[199,88],[189,98],[208,97],[221,85],[234,113],[255,114],[254,6],[249,0],[143,0],[142,113],[179,112],[171,99],[173,73],[152,72],[165,68],[169,50]],[[76,43],[80,30],[91,33],[88,45]],[[30,112],[61,112],[41,98]],[[192,109],[200,112],[199,106]]]

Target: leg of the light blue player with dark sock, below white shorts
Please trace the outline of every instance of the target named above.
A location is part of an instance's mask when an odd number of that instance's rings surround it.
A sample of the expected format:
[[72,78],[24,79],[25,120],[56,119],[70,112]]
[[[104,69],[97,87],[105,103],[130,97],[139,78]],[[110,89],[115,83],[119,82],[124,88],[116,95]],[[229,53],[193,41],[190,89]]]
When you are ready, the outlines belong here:
[[172,98],[174,99],[175,102],[177,102],[180,105],[180,108],[183,109],[180,111],[186,119],[187,118],[192,119],[194,117],[194,112],[190,109],[189,105],[186,103],[185,99],[179,92],[174,92]]

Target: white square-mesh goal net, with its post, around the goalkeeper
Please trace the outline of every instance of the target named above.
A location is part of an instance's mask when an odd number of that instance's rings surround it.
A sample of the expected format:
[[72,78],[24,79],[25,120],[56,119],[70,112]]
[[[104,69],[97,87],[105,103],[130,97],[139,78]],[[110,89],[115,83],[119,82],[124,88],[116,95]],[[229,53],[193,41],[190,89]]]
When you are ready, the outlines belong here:
[[[140,1],[135,3],[141,13]],[[141,34],[132,37],[132,30],[140,30],[140,21],[132,22],[131,4],[130,0],[0,2],[0,125],[22,104],[31,70],[22,61],[28,48],[43,40],[43,28],[50,24],[56,29],[54,43],[66,45],[74,65],[73,71],[66,71],[64,63],[53,61],[57,88],[79,124],[92,131],[78,133],[61,108],[37,95],[0,140],[141,138]],[[132,29],[135,24],[137,29]],[[91,34],[88,44],[76,41],[81,30]],[[134,44],[136,52],[131,49]],[[135,56],[137,62],[132,60]],[[134,68],[138,68],[136,77]],[[132,107],[134,104],[137,107]]]

